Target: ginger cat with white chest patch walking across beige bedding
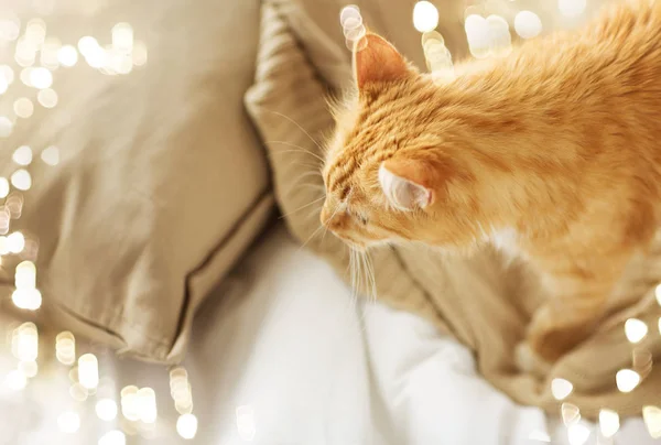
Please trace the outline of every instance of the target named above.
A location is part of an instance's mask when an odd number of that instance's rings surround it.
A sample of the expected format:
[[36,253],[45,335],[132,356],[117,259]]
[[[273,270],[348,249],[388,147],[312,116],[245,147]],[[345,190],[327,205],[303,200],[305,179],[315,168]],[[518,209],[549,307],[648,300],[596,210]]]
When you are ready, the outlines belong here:
[[552,299],[520,351],[557,360],[661,223],[661,1],[457,65],[444,85],[365,39],[357,94],[335,110],[322,224],[361,250],[491,241],[525,259]]

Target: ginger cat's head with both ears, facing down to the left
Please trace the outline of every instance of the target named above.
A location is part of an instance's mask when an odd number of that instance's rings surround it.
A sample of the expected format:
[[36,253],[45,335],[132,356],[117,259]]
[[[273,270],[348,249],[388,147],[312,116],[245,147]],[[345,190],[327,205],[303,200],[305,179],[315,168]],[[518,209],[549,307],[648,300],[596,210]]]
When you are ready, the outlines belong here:
[[[460,175],[440,140],[437,88],[382,37],[354,52],[356,94],[334,110],[336,130],[323,170],[322,224],[349,246],[437,242],[444,184]],[[364,43],[365,45],[365,43]],[[448,141],[449,142],[449,141]]]

